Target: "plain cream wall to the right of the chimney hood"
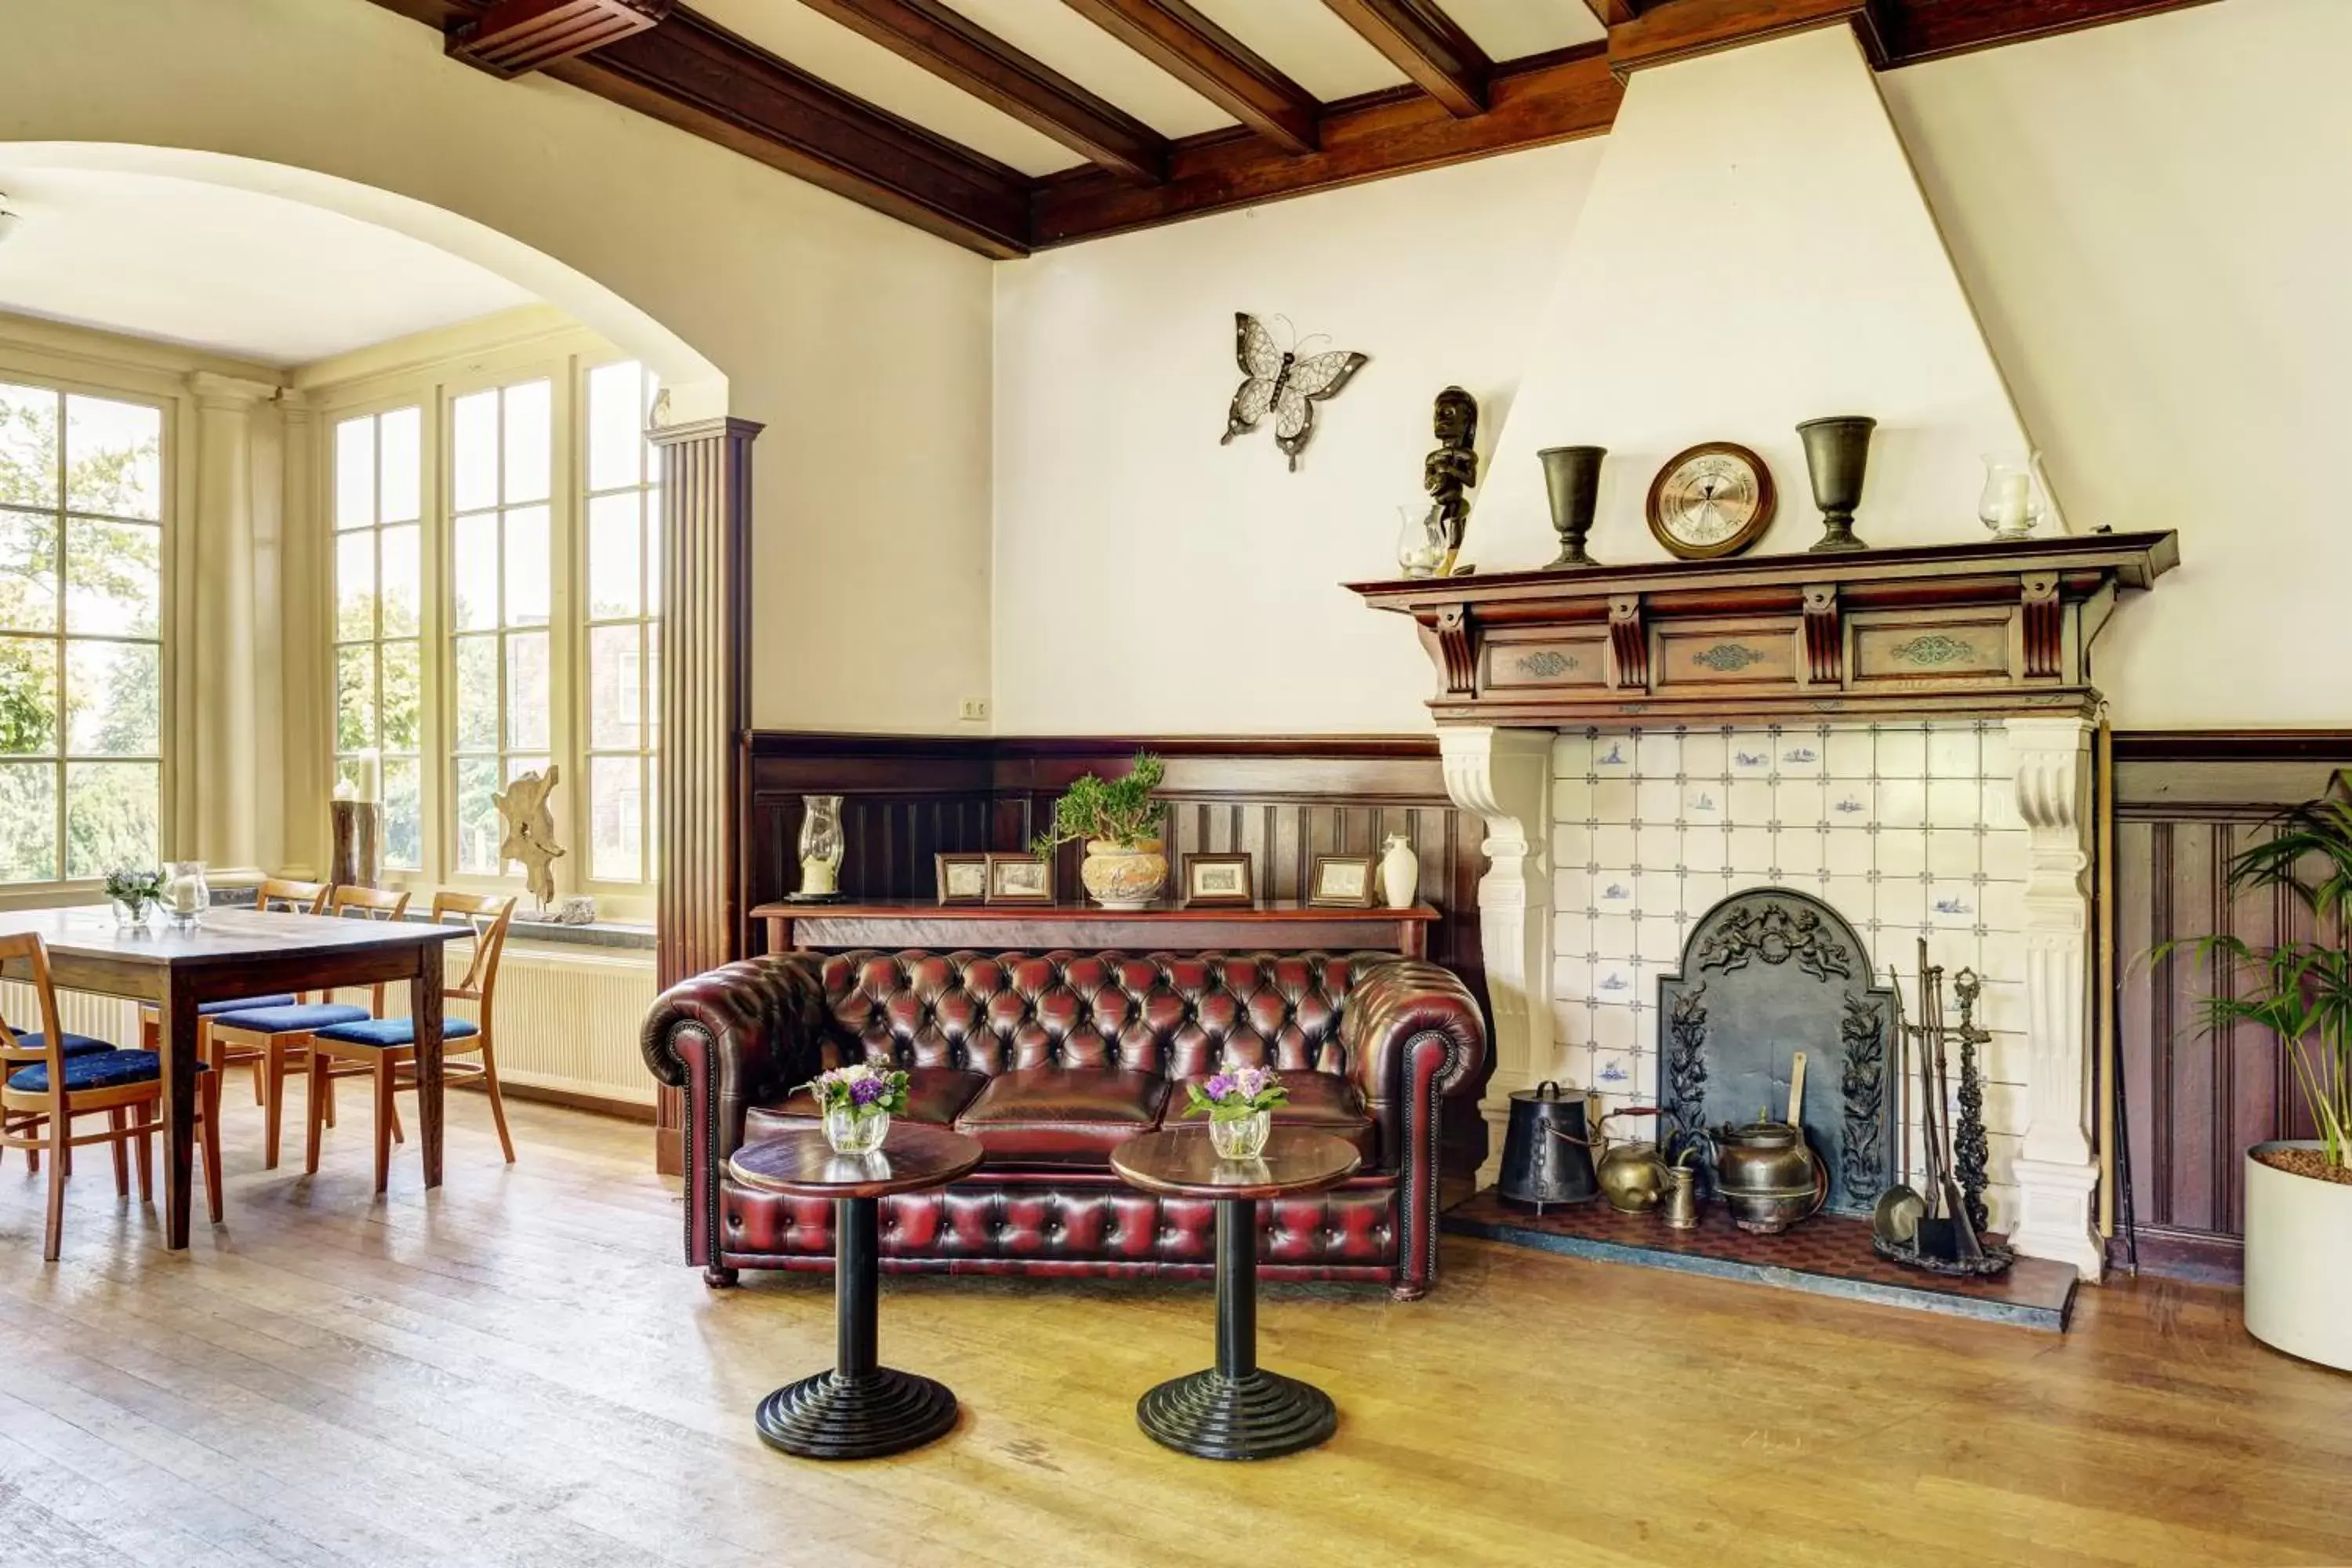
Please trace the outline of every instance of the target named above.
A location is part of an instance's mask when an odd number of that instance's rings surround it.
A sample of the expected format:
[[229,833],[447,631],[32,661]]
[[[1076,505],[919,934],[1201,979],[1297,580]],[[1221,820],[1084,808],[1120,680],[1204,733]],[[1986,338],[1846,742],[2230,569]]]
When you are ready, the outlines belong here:
[[2077,529],[2180,529],[2096,649],[2129,729],[2352,724],[2352,5],[2227,0],[1896,71]]

